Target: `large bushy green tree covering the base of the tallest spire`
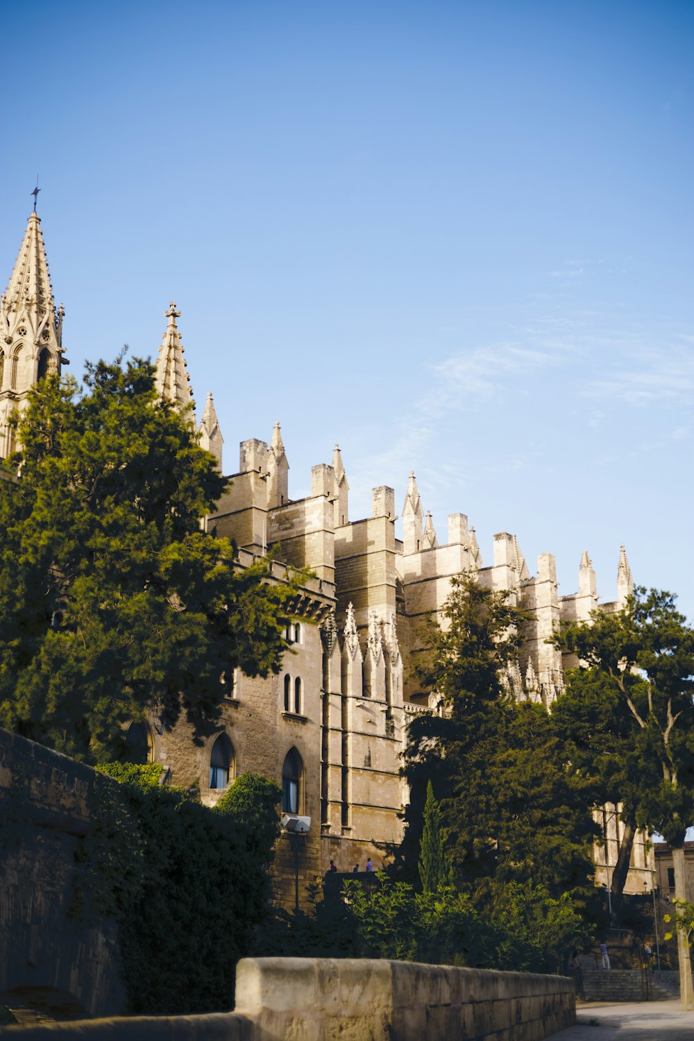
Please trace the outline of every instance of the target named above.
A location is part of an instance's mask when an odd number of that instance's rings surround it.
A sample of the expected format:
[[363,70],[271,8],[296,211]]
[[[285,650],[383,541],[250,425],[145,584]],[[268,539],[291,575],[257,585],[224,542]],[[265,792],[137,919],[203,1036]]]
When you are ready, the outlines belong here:
[[146,714],[211,732],[225,676],[279,670],[293,590],[201,531],[226,481],[190,415],[119,358],[81,392],[42,380],[19,441],[0,480],[0,725],[91,762]]

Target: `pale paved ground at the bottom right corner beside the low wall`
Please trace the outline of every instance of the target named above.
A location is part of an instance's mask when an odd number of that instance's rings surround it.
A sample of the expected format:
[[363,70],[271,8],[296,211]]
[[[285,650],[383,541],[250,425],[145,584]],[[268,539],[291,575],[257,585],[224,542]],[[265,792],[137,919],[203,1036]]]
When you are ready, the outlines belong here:
[[551,1041],[694,1041],[694,1012],[679,1001],[588,1001],[576,1019]]

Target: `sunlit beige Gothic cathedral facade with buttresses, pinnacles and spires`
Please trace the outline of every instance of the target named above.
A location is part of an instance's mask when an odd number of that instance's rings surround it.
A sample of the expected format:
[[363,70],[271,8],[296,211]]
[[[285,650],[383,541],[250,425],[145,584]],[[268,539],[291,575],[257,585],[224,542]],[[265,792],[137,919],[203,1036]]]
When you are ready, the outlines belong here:
[[[165,316],[156,386],[162,398],[187,409],[194,422],[176,304],[170,305]],[[34,212],[0,302],[0,455],[12,447],[11,411],[22,407],[36,379],[59,370],[61,329],[62,308],[55,310],[41,222]],[[199,436],[226,473],[211,395]],[[431,514],[425,515],[414,474],[402,509],[401,539],[395,533],[395,493],[387,485],[374,488],[369,517],[350,518],[349,483],[337,446],[330,463],[312,467],[306,498],[289,497],[288,471],[276,423],[269,442],[241,441],[229,490],[202,522],[207,531],[234,539],[241,566],[279,543],[284,565],[308,567],[314,576],[298,596],[297,625],[287,633],[280,675],[265,680],[237,675],[233,682],[227,678],[222,739],[196,745],[184,725],[173,733],[159,733],[152,720],[144,750],[166,766],[173,783],[199,785],[206,803],[219,798],[240,771],[254,770],[278,781],[285,776],[287,805],[311,818],[306,837],[291,841],[283,837],[278,848],[278,894],[285,900],[292,897],[297,868],[303,898],[306,884],[324,872],[331,859],[343,871],[354,865],[363,869],[367,857],[378,868],[388,845],[402,839],[408,793],[400,768],[407,720],[414,713],[437,709],[436,695],[421,690],[411,670],[422,650],[421,623],[440,611],[453,576],[473,570],[485,586],[508,590],[528,609],[532,620],[526,643],[509,682],[517,696],[547,708],[571,662],[563,662],[545,640],[560,619],[588,618],[598,604],[587,553],[581,558],[577,592],[560,596],[554,556],[540,554],[532,575],[513,534],[494,535],[492,562],[485,564],[467,516],[452,513],[447,540],[439,542]],[[283,565],[275,566],[280,578]],[[622,547],[617,598],[602,609],[618,608],[632,588]],[[614,812],[611,819],[606,824],[608,868],[616,863],[619,840]],[[596,850],[598,863],[600,856],[602,847]],[[643,892],[644,883],[650,888],[652,878],[652,852],[641,838],[627,891]]]

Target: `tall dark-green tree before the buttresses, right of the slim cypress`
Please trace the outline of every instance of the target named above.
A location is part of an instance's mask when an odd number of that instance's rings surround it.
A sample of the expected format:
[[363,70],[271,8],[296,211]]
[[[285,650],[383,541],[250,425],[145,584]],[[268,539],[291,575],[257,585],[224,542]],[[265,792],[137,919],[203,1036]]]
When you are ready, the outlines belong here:
[[415,717],[410,728],[404,856],[413,859],[431,781],[459,886],[534,880],[552,895],[583,889],[587,899],[594,827],[583,779],[568,768],[545,708],[518,702],[509,682],[522,624],[508,593],[463,575],[441,625],[430,625],[431,652],[418,676],[441,696],[442,710]]

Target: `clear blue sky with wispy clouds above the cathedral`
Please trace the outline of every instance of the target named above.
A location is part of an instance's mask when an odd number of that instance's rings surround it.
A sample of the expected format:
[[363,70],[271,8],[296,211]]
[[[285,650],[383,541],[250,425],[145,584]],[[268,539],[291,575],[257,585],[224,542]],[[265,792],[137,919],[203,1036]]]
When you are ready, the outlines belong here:
[[[225,468],[339,441],[441,541],[584,549],[694,618],[694,5],[6,4],[0,278],[40,174],[72,372],[176,300]],[[22,41],[31,46],[19,46]],[[4,258],[4,259],[3,259]],[[3,270],[4,269],[4,270]]]

